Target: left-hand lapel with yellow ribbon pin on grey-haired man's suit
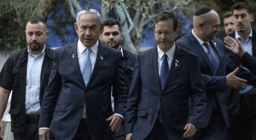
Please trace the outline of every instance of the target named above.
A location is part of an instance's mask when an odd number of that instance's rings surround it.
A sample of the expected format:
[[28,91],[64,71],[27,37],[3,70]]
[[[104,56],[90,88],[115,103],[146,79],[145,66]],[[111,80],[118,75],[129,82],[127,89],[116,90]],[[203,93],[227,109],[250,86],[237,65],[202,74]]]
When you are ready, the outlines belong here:
[[83,76],[82,76],[82,73],[81,73],[81,70],[79,67],[79,62],[78,62],[77,42],[70,44],[69,48],[70,48],[70,53],[69,53],[68,57],[70,58],[71,64],[73,65],[74,69],[76,70],[79,80],[83,83],[83,86],[85,87],[84,79],[83,79]]

